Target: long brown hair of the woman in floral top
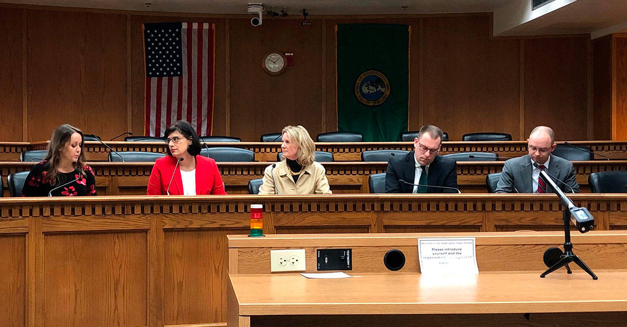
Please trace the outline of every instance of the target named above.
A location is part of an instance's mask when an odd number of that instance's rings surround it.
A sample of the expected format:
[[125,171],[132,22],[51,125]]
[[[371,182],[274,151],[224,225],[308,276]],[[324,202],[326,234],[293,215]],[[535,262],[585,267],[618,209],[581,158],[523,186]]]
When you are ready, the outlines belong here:
[[60,183],[57,180],[58,171],[56,170],[61,163],[61,151],[63,151],[63,147],[65,144],[70,142],[70,138],[72,134],[78,133],[80,134],[80,147],[81,151],[78,155],[78,161],[72,163],[75,169],[78,169],[78,172],[85,176],[85,171],[83,171],[83,167],[85,166],[85,154],[83,154],[83,142],[85,141],[85,136],[83,136],[83,132],[70,124],[63,124],[59,127],[56,127],[55,131],[52,132],[52,136],[50,137],[50,144],[48,144],[48,154],[46,154],[46,181],[53,181],[55,184]]

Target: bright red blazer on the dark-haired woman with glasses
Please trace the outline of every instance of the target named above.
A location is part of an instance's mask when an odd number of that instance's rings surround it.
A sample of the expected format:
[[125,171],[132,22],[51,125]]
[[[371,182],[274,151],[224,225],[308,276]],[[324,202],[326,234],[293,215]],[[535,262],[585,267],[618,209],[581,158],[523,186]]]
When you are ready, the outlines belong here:
[[[183,194],[181,169],[176,166],[176,157],[165,156],[155,161],[148,180],[148,195],[167,195],[166,188],[174,173],[174,180],[170,185],[170,195]],[[226,194],[224,183],[218,171],[216,161],[203,156],[196,156],[196,195]]]

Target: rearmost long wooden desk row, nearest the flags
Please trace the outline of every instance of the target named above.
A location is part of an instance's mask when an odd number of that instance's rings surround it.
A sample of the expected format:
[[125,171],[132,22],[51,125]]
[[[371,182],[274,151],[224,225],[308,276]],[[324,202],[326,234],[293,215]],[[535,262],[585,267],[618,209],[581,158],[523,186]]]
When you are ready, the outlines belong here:
[[[166,147],[162,142],[123,142],[105,141],[115,151],[148,151],[164,152]],[[562,144],[563,142],[556,142]],[[587,146],[592,151],[604,154],[612,159],[627,159],[626,141],[572,141],[577,146]],[[219,142],[208,143],[209,146],[232,146],[249,149],[255,152],[256,161],[275,161],[280,151],[280,142]],[[47,142],[0,142],[0,161],[18,161],[19,153],[25,150],[46,149]],[[85,141],[85,152],[90,161],[107,161],[107,147],[97,141]],[[413,149],[413,142],[317,142],[317,151],[333,153],[335,161],[361,161],[362,151],[396,149],[409,151]],[[441,154],[458,152],[492,152],[503,157],[516,157],[527,154],[526,141],[500,142],[443,142]],[[603,159],[597,156],[596,159]]]

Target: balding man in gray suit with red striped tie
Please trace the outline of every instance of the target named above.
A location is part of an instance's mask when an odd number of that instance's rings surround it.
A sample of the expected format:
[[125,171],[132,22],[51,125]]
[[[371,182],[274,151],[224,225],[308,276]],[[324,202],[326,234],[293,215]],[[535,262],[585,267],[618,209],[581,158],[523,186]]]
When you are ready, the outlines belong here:
[[505,161],[495,193],[554,193],[551,185],[539,178],[540,169],[552,176],[564,193],[579,193],[572,163],[551,154],[556,147],[554,137],[551,127],[535,127],[527,139],[529,154]]

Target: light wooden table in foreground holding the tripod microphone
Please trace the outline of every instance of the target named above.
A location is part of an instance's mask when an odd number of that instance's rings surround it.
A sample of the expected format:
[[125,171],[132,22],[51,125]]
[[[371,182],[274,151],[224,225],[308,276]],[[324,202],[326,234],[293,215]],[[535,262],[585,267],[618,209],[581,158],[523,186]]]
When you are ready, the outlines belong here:
[[[480,274],[418,274],[421,237],[475,237]],[[228,235],[228,240],[229,326],[529,324],[523,313],[531,313],[534,324],[616,324],[627,318],[622,312],[627,311],[627,259],[621,255],[627,234],[621,232],[572,235],[574,251],[597,272],[598,281],[579,267],[574,274],[562,269],[539,277],[544,250],[564,242],[559,232]],[[270,273],[270,250],[304,249],[307,272],[317,272],[315,249],[320,248],[352,249],[352,270],[346,272],[361,277]],[[406,257],[399,271],[383,264],[391,249]],[[579,312],[586,313],[556,314]]]

